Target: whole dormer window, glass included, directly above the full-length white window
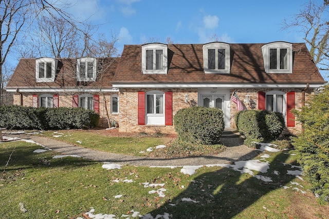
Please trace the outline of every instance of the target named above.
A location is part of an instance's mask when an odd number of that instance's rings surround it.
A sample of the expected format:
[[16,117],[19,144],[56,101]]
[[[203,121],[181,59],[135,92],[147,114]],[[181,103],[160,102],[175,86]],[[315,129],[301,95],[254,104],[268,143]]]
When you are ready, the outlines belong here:
[[143,74],[167,74],[168,47],[165,44],[147,44],[142,46]]

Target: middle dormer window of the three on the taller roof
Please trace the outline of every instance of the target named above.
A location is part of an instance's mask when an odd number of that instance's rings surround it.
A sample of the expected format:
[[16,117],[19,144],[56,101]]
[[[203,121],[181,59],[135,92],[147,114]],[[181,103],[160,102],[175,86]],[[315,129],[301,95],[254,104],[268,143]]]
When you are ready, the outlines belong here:
[[209,43],[203,46],[205,73],[230,73],[230,45]]

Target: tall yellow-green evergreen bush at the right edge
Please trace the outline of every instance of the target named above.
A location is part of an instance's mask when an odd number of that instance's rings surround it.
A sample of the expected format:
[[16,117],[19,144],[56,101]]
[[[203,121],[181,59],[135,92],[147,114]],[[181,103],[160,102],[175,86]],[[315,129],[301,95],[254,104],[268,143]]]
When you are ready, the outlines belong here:
[[293,138],[298,162],[321,202],[329,202],[329,87],[312,95],[300,110],[294,110],[304,132]]

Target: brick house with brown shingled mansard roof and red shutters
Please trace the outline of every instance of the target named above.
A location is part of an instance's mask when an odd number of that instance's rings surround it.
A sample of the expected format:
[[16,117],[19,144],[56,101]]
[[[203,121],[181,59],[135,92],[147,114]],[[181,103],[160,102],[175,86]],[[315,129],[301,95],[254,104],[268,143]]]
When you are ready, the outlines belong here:
[[[125,45],[102,77],[99,70],[89,75],[89,65],[96,69],[100,64],[87,57],[53,59],[57,72],[45,79],[48,72],[40,63],[50,68],[46,61],[21,59],[6,88],[14,92],[14,104],[44,106],[52,97],[52,107],[84,107],[89,99],[83,98],[90,97],[104,116],[104,98],[97,96],[102,94],[111,99],[105,106],[114,109],[111,117],[120,132],[174,133],[175,113],[190,106],[220,108],[225,127],[235,128],[237,105],[230,101],[235,93],[244,109],[282,112],[288,130],[297,133],[301,125],[290,110],[302,107],[326,83],[304,43]],[[81,69],[84,76],[79,76]]]

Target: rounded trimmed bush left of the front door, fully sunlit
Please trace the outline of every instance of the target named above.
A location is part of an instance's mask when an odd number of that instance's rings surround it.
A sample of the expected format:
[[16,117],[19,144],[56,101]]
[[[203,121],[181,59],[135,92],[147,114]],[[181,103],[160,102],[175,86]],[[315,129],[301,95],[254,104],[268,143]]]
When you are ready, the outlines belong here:
[[220,143],[224,131],[224,114],[217,108],[189,107],[177,111],[174,125],[180,140],[214,145]]

